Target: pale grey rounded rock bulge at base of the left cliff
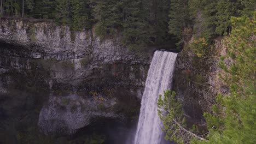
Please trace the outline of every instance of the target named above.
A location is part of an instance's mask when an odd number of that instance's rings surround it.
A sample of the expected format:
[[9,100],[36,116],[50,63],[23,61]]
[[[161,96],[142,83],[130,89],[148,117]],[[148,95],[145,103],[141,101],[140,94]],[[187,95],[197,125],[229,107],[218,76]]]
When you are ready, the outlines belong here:
[[97,117],[123,120],[112,110],[116,103],[115,98],[95,101],[79,95],[50,97],[40,112],[38,125],[45,135],[72,135]]

